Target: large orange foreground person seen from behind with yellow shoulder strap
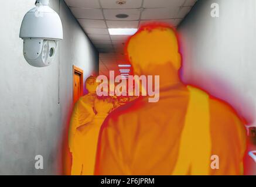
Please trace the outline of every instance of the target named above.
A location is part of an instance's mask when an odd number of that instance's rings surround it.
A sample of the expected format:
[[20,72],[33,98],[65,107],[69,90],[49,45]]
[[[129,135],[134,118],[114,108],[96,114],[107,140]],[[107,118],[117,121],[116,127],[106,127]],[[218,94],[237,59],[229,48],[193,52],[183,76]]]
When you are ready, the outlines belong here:
[[140,97],[107,117],[94,174],[242,175],[244,124],[229,105],[180,81],[175,30],[145,25],[127,52],[135,75],[160,76],[160,99]]

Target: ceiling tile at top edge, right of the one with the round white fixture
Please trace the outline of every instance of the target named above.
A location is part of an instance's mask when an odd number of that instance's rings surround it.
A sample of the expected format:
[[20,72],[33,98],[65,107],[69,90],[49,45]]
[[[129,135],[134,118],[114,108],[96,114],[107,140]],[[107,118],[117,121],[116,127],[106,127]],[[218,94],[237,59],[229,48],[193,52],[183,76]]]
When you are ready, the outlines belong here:
[[144,8],[171,8],[182,6],[185,0],[144,0]]

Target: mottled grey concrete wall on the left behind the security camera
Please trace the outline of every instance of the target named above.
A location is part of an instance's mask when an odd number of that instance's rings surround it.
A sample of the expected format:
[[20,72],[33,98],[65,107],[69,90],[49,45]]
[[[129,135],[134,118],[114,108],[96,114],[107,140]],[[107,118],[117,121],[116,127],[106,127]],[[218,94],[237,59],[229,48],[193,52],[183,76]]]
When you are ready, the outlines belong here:
[[[72,105],[72,65],[84,70],[84,79],[98,71],[97,51],[62,0],[50,0],[64,29],[59,57],[45,68],[26,63],[19,28],[34,4],[35,0],[1,2],[1,175],[58,174],[63,130]],[[44,158],[42,170],[35,169],[36,155]]]

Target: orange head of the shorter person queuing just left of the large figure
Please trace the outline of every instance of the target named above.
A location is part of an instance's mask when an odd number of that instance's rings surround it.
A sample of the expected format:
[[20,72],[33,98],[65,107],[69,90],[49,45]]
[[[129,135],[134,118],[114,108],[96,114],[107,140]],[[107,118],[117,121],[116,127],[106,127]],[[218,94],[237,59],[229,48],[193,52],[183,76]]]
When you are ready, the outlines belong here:
[[97,96],[94,101],[94,109],[97,113],[110,113],[114,107],[110,96]]

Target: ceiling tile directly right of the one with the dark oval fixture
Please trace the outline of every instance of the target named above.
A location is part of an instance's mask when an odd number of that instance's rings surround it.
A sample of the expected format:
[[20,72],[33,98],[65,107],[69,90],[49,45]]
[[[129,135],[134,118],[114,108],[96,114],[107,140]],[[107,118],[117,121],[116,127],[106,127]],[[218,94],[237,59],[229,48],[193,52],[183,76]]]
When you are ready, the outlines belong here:
[[145,9],[142,12],[141,19],[172,19],[175,18],[179,11],[179,8],[172,7],[172,8],[157,8],[157,9]]

